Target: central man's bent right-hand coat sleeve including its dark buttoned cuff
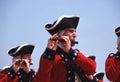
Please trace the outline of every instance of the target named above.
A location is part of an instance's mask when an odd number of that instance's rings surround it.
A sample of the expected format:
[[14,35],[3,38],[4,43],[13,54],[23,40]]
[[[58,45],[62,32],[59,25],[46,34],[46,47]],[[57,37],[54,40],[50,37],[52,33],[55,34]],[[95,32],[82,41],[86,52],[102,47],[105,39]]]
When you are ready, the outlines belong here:
[[77,64],[87,75],[93,75],[96,71],[96,62],[86,57],[79,50],[72,48],[69,51],[69,58]]

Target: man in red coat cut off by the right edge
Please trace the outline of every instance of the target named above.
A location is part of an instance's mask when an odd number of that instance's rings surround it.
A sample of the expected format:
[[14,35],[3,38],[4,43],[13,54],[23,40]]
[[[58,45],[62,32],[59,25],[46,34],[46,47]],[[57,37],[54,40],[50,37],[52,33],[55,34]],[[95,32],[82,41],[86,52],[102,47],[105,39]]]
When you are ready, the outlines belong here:
[[120,27],[115,29],[117,35],[117,52],[111,53],[105,62],[105,72],[108,80],[120,82]]

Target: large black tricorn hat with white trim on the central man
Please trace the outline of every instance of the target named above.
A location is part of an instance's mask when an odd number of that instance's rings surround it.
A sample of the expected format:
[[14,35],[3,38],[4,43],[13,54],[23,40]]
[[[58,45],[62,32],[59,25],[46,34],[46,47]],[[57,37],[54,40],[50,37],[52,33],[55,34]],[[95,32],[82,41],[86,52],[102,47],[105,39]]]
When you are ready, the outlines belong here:
[[53,24],[46,24],[46,30],[54,35],[55,33],[64,30],[65,28],[77,28],[80,16],[78,15],[65,15],[61,16]]

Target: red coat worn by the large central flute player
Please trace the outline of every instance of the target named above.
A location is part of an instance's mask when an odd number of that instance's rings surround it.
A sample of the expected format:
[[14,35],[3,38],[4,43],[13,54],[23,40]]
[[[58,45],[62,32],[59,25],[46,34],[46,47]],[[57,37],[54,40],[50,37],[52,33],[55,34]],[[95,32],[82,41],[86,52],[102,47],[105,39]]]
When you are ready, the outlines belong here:
[[[67,59],[62,59],[62,55],[59,53],[54,53],[50,50],[46,50],[40,59],[40,67],[36,75],[36,82],[69,82],[71,79],[68,73],[71,71],[68,70],[65,61]],[[55,54],[55,55],[53,55]],[[73,59],[73,62],[79,66],[85,74],[93,75],[96,70],[96,62],[86,56],[81,52],[76,52],[74,55],[73,52],[70,52],[71,56],[69,58]],[[68,54],[68,55],[70,55]],[[52,57],[51,57],[52,56]],[[76,56],[76,58],[74,58]],[[74,82],[74,81],[72,81]]]

